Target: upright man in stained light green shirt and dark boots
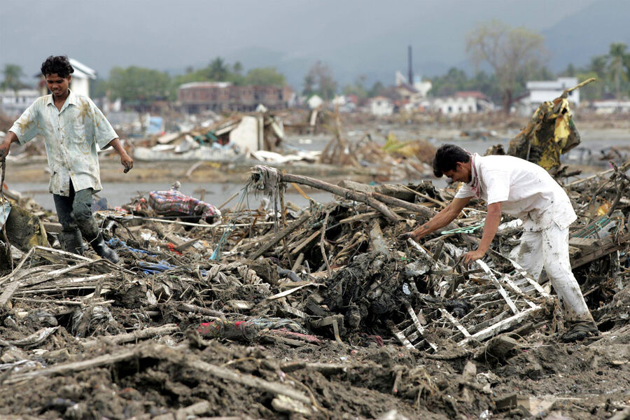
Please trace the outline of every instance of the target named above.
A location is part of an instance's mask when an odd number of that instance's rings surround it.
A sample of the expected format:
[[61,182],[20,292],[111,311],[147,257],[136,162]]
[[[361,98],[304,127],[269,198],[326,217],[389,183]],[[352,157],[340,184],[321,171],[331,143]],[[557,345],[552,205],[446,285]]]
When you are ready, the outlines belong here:
[[0,144],[0,160],[8,155],[11,144],[22,145],[41,135],[51,172],[48,189],[62,225],[64,248],[80,254],[83,233],[99,256],[118,262],[116,251],[105,244],[92,216],[92,195],[102,189],[97,145],[116,149],[125,173],[134,161],[94,102],[69,90],[73,71],[66,56],[51,55],[43,62],[41,73],[52,94],[36,99],[13,123]]

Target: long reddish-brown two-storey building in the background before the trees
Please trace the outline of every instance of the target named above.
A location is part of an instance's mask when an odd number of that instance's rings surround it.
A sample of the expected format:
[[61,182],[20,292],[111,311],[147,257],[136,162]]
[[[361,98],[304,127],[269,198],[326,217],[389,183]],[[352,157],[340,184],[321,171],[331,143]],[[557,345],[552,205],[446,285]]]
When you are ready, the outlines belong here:
[[179,87],[178,99],[183,111],[255,111],[263,104],[267,109],[288,106],[292,90],[276,86],[235,86],[230,82],[193,82]]

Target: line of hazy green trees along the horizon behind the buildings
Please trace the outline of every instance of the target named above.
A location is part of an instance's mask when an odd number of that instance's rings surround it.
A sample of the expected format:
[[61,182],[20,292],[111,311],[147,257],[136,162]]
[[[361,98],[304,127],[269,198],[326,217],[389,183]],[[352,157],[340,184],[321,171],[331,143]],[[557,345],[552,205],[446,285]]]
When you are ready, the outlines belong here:
[[[462,69],[452,67],[446,73],[429,78],[433,87],[432,97],[444,97],[461,90],[477,90],[501,104],[503,109],[526,94],[527,80],[552,80],[556,76],[576,77],[578,83],[594,77],[598,83],[582,88],[581,97],[586,100],[622,99],[630,94],[630,52],[624,43],[611,43],[608,52],[592,57],[588,64],[575,66],[554,74],[546,65],[549,52],[544,38],[524,27],[510,27],[492,20],[477,26],[465,38],[466,52],[475,67],[472,76]],[[6,64],[0,89],[18,90],[27,87],[20,66]],[[91,83],[92,96],[120,98],[130,106],[146,106],[158,100],[174,100],[177,88],[183,83],[227,81],[234,85],[285,86],[286,78],[274,67],[255,68],[244,72],[240,62],[228,64],[216,57],[201,69],[188,67],[175,76],[155,69],[139,66],[114,67],[109,79]],[[328,64],[315,62],[304,76],[301,93],[305,96],[318,94],[325,100],[335,94],[354,94],[359,100],[384,95],[395,99],[395,90],[380,81],[367,86],[367,78],[358,76],[353,83],[339,87]]]

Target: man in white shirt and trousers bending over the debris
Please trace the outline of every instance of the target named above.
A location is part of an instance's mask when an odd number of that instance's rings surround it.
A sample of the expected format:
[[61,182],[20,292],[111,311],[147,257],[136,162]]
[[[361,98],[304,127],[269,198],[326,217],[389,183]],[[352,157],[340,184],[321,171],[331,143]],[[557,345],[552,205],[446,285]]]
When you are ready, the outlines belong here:
[[512,156],[471,155],[458,146],[444,144],[433,159],[433,173],[464,184],[448,207],[400,239],[418,240],[429,235],[451,223],[472,197],[484,200],[488,204],[484,233],[477,249],[465,254],[465,265],[486,254],[503,211],[520,218],[524,232],[512,257],[534,279],[545,268],[566,318],[568,328],[561,339],[573,342],[598,335],[569,261],[568,227],[577,216],[568,195],[545,169]]

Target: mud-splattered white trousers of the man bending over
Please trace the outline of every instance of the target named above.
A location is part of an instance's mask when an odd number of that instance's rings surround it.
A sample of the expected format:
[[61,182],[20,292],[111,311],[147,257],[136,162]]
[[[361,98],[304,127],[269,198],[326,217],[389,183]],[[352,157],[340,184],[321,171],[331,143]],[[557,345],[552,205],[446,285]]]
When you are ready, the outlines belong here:
[[512,250],[510,258],[516,260],[537,281],[542,268],[545,268],[566,321],[593,321],[580,285],[571,272],[568,228],[561,229],[554,223],[551,228],[539,232],[524,232],[521,243]]

